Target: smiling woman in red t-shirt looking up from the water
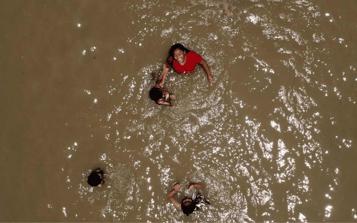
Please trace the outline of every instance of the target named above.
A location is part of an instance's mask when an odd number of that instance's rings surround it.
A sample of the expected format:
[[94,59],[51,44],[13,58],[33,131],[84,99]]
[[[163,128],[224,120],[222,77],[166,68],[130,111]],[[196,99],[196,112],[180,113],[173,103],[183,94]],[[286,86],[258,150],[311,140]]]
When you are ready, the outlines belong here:
[[162,68],[162,72],[157,78],[157,83],[159,86],[164,86],[165,78],[169,68],[172,67],[176,72],[180,74],[191,74],[195,69],[197,64],[201,64],[203,70],[207,74],[208,81],[213,83],[213,77],[211,75],[210,69],[205,60],[197,54],[196,52],[186,49],[181,44],[175,44],[171,46],[169,51],[169,57],[167,57],[166,64]]

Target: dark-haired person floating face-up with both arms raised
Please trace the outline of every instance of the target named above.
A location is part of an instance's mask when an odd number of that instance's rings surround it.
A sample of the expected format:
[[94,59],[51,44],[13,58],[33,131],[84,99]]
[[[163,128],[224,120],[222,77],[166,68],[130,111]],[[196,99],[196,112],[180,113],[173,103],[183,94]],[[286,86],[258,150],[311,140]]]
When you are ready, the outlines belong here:
[[[189,189],[192,190],[194,187],[196,188],[202,188],[202,184],[199,183],[190,183],[189,185]],[[196,196],[193,197],[188,197],[185,196],[182,199],[181,204],[179,204],[177,201],[175,201],[174,198],[172,198],[172,196],[174,196],[174,194],[180,190],[180,184],[176,183],[174,186],[174,189],[167,195],[167,198],[169,198],[169,200],[174,204],[174,206],[178,209],[181,209],[182,212],[184,214],[186,214],[187,216],[189,214],[191,214],[194,211],[197,211],[198,209],[200,209],[200,207],[198,206],[198,204],[200,203],[205,203],[205,204],[210,204],[210,202],[206,201],[202,196],[201,193],[198,193]]]

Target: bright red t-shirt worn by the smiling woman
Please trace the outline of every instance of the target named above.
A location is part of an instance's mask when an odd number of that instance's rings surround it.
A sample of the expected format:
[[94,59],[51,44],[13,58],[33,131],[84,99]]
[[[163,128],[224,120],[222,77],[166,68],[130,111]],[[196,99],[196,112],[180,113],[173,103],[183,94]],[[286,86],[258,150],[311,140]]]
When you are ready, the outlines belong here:
[[[169,57],[169,61],[172,61],[172,56]],[[196,52],[190,51],[186,54],[186,62],[184,65],[181,65],[176,60],[172,64],[174,70],[180,74],[191,74],[195,69],[198,63],[202,61],[202,57],[200,54]],[[166,67],[170,68],[171,65],[166,61]]]

